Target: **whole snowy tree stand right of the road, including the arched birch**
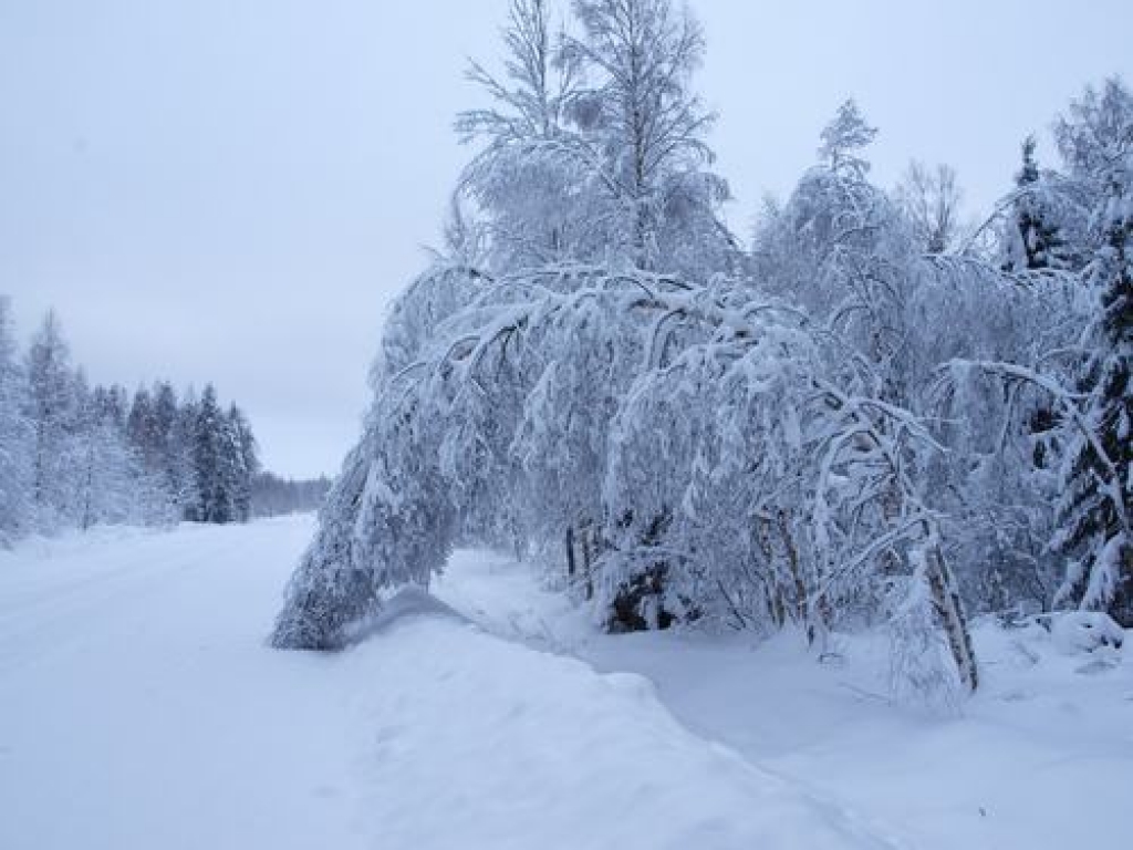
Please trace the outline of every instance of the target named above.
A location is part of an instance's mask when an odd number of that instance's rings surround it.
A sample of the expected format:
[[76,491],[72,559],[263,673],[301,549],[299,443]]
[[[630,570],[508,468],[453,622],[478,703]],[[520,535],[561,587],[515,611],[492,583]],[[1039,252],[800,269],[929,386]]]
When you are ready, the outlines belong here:
[[946,167],[876,185],[847,101],[746,245],[687,9],[513,0],[503,51],[276,645],[339,645],[469,539],[553,555],[611,629],[887,628],[918,691],[977,686],[972,611],[1133,624],[1121,80],[978,227]]

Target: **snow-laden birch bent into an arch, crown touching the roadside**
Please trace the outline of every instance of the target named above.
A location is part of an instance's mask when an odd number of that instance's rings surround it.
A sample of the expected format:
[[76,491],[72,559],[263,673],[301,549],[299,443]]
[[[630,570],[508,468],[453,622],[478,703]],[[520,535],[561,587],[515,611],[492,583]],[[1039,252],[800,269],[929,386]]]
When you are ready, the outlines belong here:
[[938,519],[911,475],[938,447],[793,307],[721,278],[438,266],[400,300],[384,349],[276,646],[341,646],[458,539],[550,551],[590,528],[587,579],[611,624],[629,600],[654,623],[793,622],[821,640],[923,600],[976,687]]

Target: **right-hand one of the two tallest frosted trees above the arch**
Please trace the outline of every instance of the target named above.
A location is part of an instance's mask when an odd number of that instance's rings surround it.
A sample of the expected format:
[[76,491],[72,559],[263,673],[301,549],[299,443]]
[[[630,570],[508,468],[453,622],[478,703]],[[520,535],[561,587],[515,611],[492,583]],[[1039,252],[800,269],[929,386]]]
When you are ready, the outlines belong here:
[[639,269],[706,275],[726,269],[733,240],[718,218],[729,197],[709,170],[715,121],[691,88],[704,33],[672,0],[576,0],[580,34],[563,40],[586,85],[572,105],[573,150],[594,175],[616,253]]

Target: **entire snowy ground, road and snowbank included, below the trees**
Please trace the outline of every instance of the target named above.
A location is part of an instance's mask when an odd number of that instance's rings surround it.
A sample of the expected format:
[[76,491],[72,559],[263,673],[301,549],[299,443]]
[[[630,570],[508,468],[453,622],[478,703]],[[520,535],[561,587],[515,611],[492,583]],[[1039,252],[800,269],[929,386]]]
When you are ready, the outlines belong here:
[[406,596],[339,655],[273,652],[310,533],[100,532],[0,553],[0,848],[1033,850],[1122,834],[1127,661],[1075,672],[1041,637],[987,630],[985,692],[940,720],[875,696],[876,647],[830,669],[790,638],[611,638],[530,571],[471,553],[436,587],[446,604]]

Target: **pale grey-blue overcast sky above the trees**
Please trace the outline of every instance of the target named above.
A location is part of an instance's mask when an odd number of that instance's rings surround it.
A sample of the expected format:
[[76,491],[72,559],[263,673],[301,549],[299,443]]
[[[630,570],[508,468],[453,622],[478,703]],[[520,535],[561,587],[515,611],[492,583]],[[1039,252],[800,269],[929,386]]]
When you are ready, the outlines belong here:
[[[1133,79],[1128,0],[691,6],[744,235],[847,95],[881,129],[883,185],[947,161],[974,214],[1085,83]],[[0,292],[22,330],[53,305],[93,380],[212,380],[270,468],[335,471],[467,155],[465,59],[497,54],[505,7],[0,0]]]

